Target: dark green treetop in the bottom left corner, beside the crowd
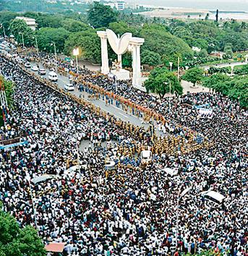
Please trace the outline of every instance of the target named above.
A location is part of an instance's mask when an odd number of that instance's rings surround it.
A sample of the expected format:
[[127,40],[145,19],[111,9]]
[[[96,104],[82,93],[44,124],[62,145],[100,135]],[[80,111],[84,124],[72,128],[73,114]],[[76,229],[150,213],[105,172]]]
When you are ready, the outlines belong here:
[[0,255],[1,256],[45,256],[43,242],[31,226],[21,229],[0,204]]

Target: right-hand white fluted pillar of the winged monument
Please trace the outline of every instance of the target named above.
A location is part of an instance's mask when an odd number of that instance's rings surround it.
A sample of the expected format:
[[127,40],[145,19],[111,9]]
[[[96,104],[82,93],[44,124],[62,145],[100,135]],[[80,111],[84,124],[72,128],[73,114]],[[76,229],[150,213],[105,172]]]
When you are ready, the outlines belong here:
[[142,86],[140,71],[140,46],[145,42],[144,38],[131,38],[130,46],[132,46],[132,85],[135,87]]

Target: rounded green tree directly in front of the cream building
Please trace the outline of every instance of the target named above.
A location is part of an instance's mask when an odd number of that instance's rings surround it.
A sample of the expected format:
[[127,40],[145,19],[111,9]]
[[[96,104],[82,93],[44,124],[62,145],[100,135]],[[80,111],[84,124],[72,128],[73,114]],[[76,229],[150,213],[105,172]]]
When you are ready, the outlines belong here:
[[18,43],[22,43],[22,35],[25,46],[32,46],[34,44],[34,31],[27,26],[24,20],[14,19],[9,25],[9,30],[14,35]]

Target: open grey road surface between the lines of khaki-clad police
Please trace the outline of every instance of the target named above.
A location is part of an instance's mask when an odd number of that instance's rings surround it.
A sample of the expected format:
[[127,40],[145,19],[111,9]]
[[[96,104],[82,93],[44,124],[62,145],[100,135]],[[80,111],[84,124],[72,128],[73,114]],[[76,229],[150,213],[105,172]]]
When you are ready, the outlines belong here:
[[[31,63],[31,65],[33,64],[35,64],[35,62]],[[43,67],[41,64],[38,64],[38,66]],[[45,67],[43,68],[46,69]],[[33,72],[31,69],[28,69],[28,70]],[[42,75],[40,77],[46,78],[48,80],[48,72],[49,70],[46,69],[46,75]],[[37,72],[34,72],[34,73],[37,74]],[[67,83],[69,83],[69,77],[58,74],[58,82],[56,82],[56,84],[59,85],[59,88],[64,89],[64,85]],[[87,96],[89,95],[88,93],[80,92],[79,90],[77,90],[77,88],[75,88],[74,91],[69,93],[77,95],[77,97],[80,97],[80,95],[84,95],[85,99],[87,99]],[[106,106],[105,101],[103,101],[102,99],[94,100],[90,102],[94,103],[95,106],[100,107],[103,111],[106,111],[109,114],[113,114],[114,116],[116,116],[118,119],[121,119],[122,121],[126,121],[126,122],[129,121],[131,124],[134,124],[140,127],[145,127],[145,129],[148,128],[148,124],[143,124],[142,119],[139,119],[137,116],[133,116],[132,114],[127,113],[126,111],[123,111],[121,108],[117,108],[115,101],[113,105],[110,105],[110,106]],[[162,136],[162,137],[164,136],[163,132],[158,131],[157,127],[155,127],[155,129],[158,136]]]

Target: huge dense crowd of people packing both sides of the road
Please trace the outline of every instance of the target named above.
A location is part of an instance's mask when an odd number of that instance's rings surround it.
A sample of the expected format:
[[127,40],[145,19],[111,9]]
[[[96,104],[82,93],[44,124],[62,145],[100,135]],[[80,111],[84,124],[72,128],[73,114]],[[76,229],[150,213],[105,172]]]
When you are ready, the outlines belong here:
[[[0,73],[16,85],[14,110],[8,127],[1,129],[11,132],[13,127],[28,142],[0,150],[0,200],[20,225],[35,226],[36,219],[44,242],[66,243],[64,255],[176,256],[208,249],[248,254],[248,112],[239,103],[218,93],[194,93],[173,98],[168,111],[166,99],[119,82],[118,95],[163,114],[168,131],[181,134],[185,144],[189,138],[183,127],[213,141],[211,147],[184,154],[179,147],[177,155],[161,155],[166,139],[157,140],[154,148],[145,130],[95,113],[1,57]],[[116,90],[106,77],[85,74],[83,79],[85,86],[92,82]],[[194,106],[206,103],[211,112],[201,115]],[[86,139],[90,146],[79,153]],[[91,146],[94,140],[114,142],[102,150]],[[135,155],[135,163],[123,164],[129,162],[124,148],[142,145],[153,146],[155,161],[142,165]],[[106,158],[119,159],[114,169],[106,171]],[[177,175],[169,176],[165,168]],[[35,210],[27,174],[59,175],[31,184]],[[180,197],[186,188],[189,192]],[[223,202],[203,197],[209,189],[223,195]]]

